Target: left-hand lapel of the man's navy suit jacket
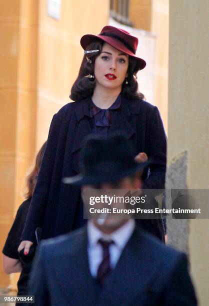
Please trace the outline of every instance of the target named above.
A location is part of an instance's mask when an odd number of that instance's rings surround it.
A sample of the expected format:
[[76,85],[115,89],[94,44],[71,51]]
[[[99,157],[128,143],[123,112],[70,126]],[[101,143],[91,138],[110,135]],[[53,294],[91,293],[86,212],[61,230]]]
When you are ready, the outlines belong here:
[[66,249],[62,254],[53,266],[54,283],[60,287],[66,300],[73,299],[73,304],[93,305],[96,297],[94,280],[88,267],[86,227],[80,230],[74,240],[66,241]]

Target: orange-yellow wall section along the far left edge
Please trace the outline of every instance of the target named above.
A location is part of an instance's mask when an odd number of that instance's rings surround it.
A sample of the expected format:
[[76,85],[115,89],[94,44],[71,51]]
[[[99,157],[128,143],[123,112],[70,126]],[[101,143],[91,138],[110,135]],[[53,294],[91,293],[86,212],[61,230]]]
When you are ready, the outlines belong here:
[[[0,9],[0,248],[22,201],[34,154],[36,118],[36,1],[1,1]],[[0,285],[15,283],[0,265]]]

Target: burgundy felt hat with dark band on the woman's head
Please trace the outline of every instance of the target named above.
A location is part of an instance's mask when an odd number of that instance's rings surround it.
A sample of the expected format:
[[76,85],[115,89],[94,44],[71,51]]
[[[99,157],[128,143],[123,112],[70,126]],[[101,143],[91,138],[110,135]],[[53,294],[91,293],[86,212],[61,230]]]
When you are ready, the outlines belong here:
[[80,39],[80,44],[85,50],[86,47],[96,39],[101,39],[114,48],[134,57],[140,63],[140,70],[146,65],[145,60],[135,55],[138,45],[138,38],[130,35],[126,30],[111,25],[105,25],[98,35],[85,34]]

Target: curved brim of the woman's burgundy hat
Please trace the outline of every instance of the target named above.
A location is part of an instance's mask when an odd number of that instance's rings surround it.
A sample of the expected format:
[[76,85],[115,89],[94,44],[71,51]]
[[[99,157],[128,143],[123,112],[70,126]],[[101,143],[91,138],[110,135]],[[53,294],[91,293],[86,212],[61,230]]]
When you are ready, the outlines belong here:
[[95,39],[103,40],[107,42],[108,44],[110,44],[111,46],[113,46],[114,48],[118,49],[119,51],[124,52],[125,54],[128,54],[129,56],[134,57],[139,62],[140,70],[142,70],[146,66],[146,62],[144,59],[135,56],[135,54],[131,52],[120,40],[114,37],[85,34],[80,39],[81,47],[85,50],[86,47]]

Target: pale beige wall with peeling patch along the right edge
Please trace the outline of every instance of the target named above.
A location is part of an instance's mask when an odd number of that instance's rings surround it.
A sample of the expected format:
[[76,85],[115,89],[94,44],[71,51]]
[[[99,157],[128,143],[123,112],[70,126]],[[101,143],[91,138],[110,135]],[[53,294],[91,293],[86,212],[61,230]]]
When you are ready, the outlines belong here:
[[[168,165],[186,152],[182,174],[188,188],[199,189],[209,187],[208,12],[207,0],[170,1]],[[201,306],[209,300],[208,229],[209,220],[188,222],[191,275]]]

